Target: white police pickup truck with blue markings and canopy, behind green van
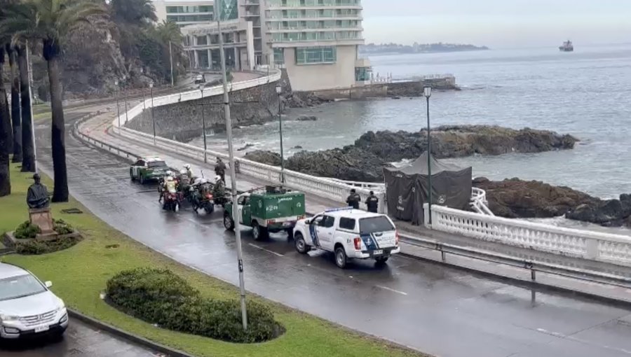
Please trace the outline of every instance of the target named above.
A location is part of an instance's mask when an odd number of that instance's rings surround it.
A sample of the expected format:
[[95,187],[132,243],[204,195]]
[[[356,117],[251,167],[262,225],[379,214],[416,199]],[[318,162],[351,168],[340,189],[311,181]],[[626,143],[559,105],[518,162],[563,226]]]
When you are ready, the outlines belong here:
[[335,253],[335,264],[346,267],[348,259],[374,259],[384,264],[400,252],[399,234],[391,219],[352,207],[330,209],[302,219],[294,228],[298,253],[311,248]]

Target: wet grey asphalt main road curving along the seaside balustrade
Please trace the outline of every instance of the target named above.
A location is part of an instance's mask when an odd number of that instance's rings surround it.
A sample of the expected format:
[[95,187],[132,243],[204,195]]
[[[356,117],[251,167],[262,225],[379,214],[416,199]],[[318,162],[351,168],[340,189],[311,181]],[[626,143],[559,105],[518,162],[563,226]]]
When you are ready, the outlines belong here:
[[[68,113],[68,126],[85,113]],[[44,130],[46,129],[46,130]],[[39,125],[41,169],[52,172],[49,129]],[[128,162],[67,137],[72,195],[156,251],[238,283],[234,235],[222,210],[162,211],[154,186],[130,182]],[[511,286],[395,256],[386,267],[294,250],[286,235],[254,241],[243,230],[247,290],[361,332],[437,356],[630,356],[631,310]],[[492,264],[492,263],[489,263]],[[237,296],[235,296],[237,297]]]

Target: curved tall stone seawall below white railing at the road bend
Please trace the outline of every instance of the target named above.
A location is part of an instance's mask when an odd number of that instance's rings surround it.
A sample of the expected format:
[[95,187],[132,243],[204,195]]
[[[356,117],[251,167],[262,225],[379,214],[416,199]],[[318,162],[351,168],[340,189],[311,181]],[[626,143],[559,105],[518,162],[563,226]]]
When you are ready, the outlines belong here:
[[[204,97],[203,112],[206,128],[210,132],[224,132],[226,121],[222,95]],[[203,131],[201,99],[166,106],[156,106],[156,134],[160,137],[189,141],[201,136]],[[276,82],[230,92],[232,126],[252,125],[273,120],[278,115]],[[151,109],[130,120],[125,126],[133,130],[153,134]]]

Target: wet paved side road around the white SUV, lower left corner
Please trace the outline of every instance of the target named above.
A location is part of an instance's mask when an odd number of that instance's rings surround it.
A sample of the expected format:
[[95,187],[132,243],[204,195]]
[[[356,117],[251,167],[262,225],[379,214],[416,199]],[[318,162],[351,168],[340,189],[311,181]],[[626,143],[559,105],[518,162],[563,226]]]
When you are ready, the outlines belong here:
[[0,342],[2,357],[154,357],[158,353],[71,320],[64,338]]

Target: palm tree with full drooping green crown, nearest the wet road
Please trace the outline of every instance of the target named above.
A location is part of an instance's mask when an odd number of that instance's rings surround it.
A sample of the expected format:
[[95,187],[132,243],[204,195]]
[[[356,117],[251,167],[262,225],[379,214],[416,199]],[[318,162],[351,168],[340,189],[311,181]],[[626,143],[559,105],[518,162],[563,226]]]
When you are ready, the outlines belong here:
[[66,169],[65,120],[60,82],[60,54],[64,41],[81,25],[92,25],[90,16],[102,16],[102,6],[88,0],[25,0],[8,6],[6,18],[0,22],[14,39],[41,41],[43,57],[48,64],[50,108],[53,114],[51,144],[55,188],[53,202],[67,202],[68,176]]

